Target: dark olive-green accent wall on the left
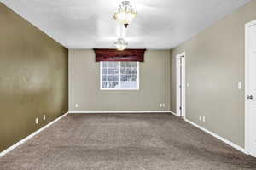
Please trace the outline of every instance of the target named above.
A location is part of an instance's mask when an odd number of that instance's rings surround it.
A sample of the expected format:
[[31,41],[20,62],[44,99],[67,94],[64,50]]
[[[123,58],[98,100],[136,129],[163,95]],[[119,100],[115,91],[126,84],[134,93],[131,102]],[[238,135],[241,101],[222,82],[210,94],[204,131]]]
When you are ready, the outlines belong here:
[[3,3],[0,25],[1,152],[67,112],[68,51]]

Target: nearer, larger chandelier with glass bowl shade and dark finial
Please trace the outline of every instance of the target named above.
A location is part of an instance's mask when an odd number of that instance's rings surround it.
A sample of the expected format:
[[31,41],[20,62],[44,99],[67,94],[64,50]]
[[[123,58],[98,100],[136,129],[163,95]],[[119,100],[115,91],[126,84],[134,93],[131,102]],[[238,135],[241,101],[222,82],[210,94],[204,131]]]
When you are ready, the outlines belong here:
[[124,24],[127,27],[131,21],[135,18],[137,13],[131,7],[129,1],[123,1],[119,6],[118,12],[113,14],[113,18],[118,20],[120,23]]

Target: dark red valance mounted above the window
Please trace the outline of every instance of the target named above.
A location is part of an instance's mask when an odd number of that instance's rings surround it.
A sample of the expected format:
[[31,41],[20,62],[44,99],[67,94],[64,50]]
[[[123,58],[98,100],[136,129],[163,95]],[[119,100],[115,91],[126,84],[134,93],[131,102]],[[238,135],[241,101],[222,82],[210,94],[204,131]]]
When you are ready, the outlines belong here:
[[94,49],[96,62],[100,61],[139,61],[144,62],[144,53],[146,49],[125,49],[119,51],[116,49]]

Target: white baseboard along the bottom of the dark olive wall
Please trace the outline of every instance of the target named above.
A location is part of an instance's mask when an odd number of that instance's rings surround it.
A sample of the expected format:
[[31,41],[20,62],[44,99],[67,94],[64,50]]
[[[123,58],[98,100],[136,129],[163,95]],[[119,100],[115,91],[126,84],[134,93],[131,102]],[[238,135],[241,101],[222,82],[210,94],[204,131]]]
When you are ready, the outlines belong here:
[[62,116],[59,116],[58,118],[56,118],[54,121],[49,122],[47,125],[45,125],[44,127],[38,129],[36,132],[28,135],[25,139],[21,139],[19,142],[17,142],[16,144],[10,146],[8,149],[3,150],[2,152],[0,152],[0,157],[4,156],[5,154],[7,154],[9,151],[14,150],[16,147],[18,147],[20,144],[24,144],[26,143],[27,140],[32,139],[32,137],[34,137],[35,135],[37,135],[38,133],[40,133],[41,131],[43,131],[45,128],[49,127],[50,125],[54,124],[55,122],[58,122],[62,117],[67,116],[68,112],[65,113]]

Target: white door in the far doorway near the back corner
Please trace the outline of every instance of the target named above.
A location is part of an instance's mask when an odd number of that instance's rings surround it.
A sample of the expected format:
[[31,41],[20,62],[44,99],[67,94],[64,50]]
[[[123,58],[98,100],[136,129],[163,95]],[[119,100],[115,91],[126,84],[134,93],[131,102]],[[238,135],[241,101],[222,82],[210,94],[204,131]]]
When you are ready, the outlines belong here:
[[186,89],[186,82],[185,82],[185,53],[178,54],[176,57],[176,71],[177,71],[177,116],[185,116],[185,102],[186,102],[186,94],[185,94],[185,89]]

